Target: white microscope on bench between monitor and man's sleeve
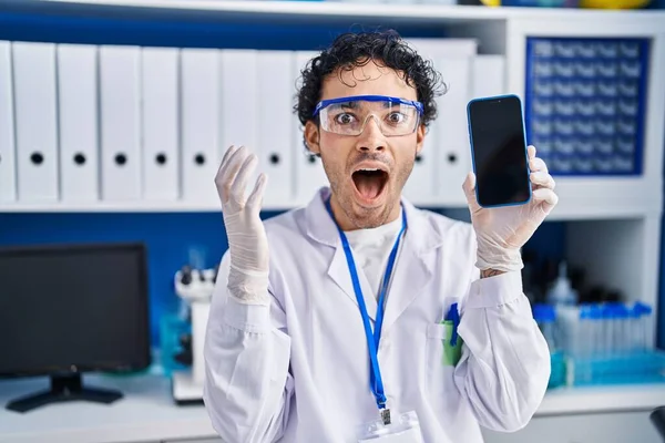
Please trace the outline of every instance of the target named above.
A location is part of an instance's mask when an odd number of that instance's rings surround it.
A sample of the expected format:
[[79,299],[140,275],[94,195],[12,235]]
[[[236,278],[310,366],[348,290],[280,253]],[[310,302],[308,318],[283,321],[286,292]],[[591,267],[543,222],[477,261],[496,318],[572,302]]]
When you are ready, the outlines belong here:
[[[184,266],[175,274],[175,293],[188,305],[191,318],[191,354],[185,359],[192,365],[185,370],[172,372],[172,393],[176,403],[197,403],[203,401],[205,362],[203,346],[211,310],[211,299],[215,289],[217,269],[196,269]],[[182,358],[182,357],[181,357]]]

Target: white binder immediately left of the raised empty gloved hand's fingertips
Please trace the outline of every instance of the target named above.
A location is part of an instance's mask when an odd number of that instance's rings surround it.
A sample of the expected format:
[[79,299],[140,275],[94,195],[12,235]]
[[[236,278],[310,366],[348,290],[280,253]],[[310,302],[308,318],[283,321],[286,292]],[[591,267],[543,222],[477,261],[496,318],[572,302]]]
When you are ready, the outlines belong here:
[[182,198],[217,203],[221,78],[217,50],[181,52]]

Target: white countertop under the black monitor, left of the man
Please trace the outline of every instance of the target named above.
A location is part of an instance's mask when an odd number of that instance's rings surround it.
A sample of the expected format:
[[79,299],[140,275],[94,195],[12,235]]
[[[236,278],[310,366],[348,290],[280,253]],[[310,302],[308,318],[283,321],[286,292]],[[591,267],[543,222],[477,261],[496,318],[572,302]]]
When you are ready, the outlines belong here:
[[48,388],[45,378],[0,381],[0,443],[136,443],[211,439],[215,431],[203,406],[176,406],[170,379],[160,375],[84,375],[86,385],[119,389],[105,405],[69,402],[25,414],[4,410],[14,398]]

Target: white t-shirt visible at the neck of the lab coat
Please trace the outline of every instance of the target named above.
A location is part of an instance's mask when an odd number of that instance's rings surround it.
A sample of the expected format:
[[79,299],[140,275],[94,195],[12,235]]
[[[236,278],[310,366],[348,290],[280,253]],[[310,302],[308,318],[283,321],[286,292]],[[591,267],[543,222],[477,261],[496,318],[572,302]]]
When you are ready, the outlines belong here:
[[[386,274],[388,258],[390,257],[390,251],[392,250],[397,235],[401,229],[401,224],[402,216],[400,213],[400,216],[397,217],[396,220],[377,228],[345,231],[349,245],[351,246],[351,250],[354,251],[356,266],[365,272],[377,299],[379,298],[381,279]],[[402,241],[400,241],[400,249],[401,244]],[[395,274],[395,268],[392,268],[392,274]]]

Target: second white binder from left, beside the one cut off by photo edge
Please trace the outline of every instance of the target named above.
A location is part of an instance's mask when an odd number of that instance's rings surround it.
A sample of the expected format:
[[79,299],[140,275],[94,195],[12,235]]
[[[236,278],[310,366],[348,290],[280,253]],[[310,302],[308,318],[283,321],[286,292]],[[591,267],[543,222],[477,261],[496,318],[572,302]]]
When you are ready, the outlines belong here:
[[55,45],[12,44],[18,197],[55,202],[60,196]]

